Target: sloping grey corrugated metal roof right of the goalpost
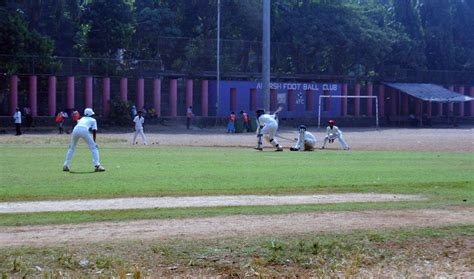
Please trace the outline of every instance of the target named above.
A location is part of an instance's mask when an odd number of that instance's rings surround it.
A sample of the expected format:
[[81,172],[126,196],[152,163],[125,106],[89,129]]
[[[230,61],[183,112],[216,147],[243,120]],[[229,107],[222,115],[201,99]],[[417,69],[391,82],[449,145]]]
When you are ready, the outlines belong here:
[[468,102],[474,98],[465,96],[442,86],[431,83],[391,83],[386,85],[398,89],[423,101],[431,102]]

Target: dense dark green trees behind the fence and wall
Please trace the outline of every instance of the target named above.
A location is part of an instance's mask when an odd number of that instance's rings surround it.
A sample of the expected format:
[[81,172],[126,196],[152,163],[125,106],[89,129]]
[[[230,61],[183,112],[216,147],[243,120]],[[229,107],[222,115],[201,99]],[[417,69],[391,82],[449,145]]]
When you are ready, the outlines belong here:
[[[223,71],[259,72],[261,0],[221,7]],[[216,0],[3,0],[0,9],[1,55],[109,58],[119,66],[107,73],[215,69]],[[472,30],[474,1],[273,0],[272,72],[474,71]],[[3,61],[9,72],[28,67]]]

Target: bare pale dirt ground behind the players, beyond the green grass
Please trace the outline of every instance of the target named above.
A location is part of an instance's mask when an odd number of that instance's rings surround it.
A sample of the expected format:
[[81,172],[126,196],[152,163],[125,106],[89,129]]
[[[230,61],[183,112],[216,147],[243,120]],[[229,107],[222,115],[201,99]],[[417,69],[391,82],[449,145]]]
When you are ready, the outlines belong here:
[[[254,147],[254,133],[226,134],[225,128],[186,130],[184,126],[165,127],[161,125],[147,126],[145,133],[153,146],[223,146],[223,147]],[[317,139],[317,146],[322,144],[324,129],[309,127]],[[400,151],[432,151],[432,152],[474,152],[474,128],[345,128],[341,127],[344,137],[352,150],[400,150]],[[297,136],[296,128],[280,127],[277,139],[285,148],[295,144],[292,139]],[[132,130],[115,133],[101,131],[98,143],[102,147],[130,147]],[[35,146],[52,145],[67,146],[69,135],[58,135],[51,129],[47,134],[24,134],[15,137],[12,134],[0,135],[0,144],[30,144]],[[268,145],[267,145],[268,146]],[[328,149],[340,150],[339,143],[330,144]],[[142,148],[135,146],[134,148]],[[317,151],[323,152],[323,151]],[[326,152],[326,151],[324,151]]]

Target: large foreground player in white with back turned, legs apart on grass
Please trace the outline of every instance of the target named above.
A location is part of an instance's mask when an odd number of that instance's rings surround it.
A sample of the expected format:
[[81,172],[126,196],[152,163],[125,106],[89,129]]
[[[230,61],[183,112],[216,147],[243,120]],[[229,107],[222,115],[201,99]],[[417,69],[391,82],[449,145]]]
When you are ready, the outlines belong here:
[[[92,118],[94,114],[95,113],[91,108],[86,108],[84,110],[84,117],[77,121],[77,124],[72,131],[71,144],[69,145],[69,150],[66,155],[66,161],[64,161],[63,171],[69,171],[69,163],[71,162],[72,155],[74,155],[74,150],[79,138],[84,139],[89,146],[89,150],[92,153],[92,162],[94,163],[95,171],[105,171],[105,168],[100,165],[99,149],[95,143],[97,121]],[[89,133],[89,129],[92,130],[92,137]]]

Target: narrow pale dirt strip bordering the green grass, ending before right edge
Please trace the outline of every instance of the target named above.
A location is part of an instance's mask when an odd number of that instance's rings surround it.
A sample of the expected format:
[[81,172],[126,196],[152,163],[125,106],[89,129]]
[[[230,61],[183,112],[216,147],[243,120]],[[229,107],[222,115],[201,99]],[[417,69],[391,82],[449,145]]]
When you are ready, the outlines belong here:
[[394,194],[327,194],[295,196],[196,196],[160,198],[120,198],[65,201],[32,201],[0,203],[0,213],[89,211],[139,208],[184,208],[214,206],[325,204],[345,202],[391,202],[423,200],[417,195]]

